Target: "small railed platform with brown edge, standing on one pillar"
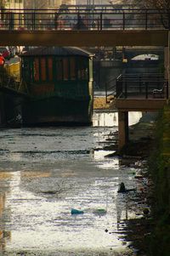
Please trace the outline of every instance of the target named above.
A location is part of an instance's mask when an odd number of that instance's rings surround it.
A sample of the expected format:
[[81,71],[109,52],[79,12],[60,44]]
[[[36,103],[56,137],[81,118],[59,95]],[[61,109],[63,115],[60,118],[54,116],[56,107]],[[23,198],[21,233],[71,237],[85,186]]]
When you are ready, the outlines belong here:
[[112,83],[108,88],[110,94],[106,95],[116,97],[121,149],[128,141],[128,111],[159,111],[168,102],[169,88],[167,79],[160,73],[122,74]]

